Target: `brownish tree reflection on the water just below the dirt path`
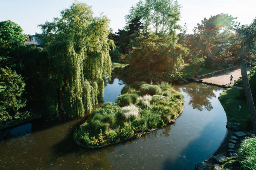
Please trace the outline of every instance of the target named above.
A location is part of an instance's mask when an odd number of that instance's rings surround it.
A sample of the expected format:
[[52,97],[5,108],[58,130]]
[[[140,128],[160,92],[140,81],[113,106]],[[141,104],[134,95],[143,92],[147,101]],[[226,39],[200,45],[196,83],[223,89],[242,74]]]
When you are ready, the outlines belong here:
[[210,99],[216,97],[214,91],[218,91],[220,88],[202,83],[190,83],[183,86],[181,89],[190,96],[189,105],[191,105],[193,109],[197,109],[201,112],[204,110],[212,110]]

